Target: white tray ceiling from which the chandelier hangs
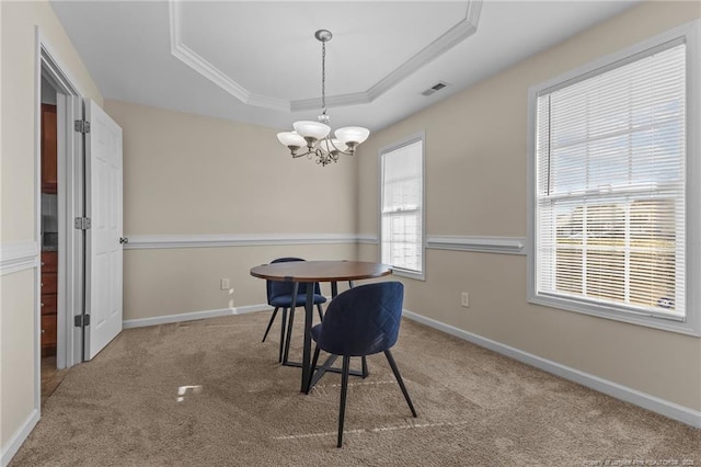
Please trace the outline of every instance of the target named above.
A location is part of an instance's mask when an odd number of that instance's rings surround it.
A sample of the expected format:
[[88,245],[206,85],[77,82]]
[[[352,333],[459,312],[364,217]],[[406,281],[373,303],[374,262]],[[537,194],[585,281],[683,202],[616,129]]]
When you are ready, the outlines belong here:
[[[57,1],[106,99],[275,128],[321,107],[386,127],[620,13],[632,1]],[[430,96],[437,82],[449,86]]]

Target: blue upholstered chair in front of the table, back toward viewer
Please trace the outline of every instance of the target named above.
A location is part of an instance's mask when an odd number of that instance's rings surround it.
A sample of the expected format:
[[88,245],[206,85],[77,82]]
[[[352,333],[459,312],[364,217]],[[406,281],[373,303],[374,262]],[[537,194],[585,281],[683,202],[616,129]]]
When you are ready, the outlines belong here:
[[[343,356],[337,447],[343,444],[343,421],[352,356],[384,352],[412,415],[416,417],[416,410],[390,352],[399,337],[403,300],[404,285],[401,282],[381,282],[350,288],[331,300],[324,320],[311,330],[312,339],[317,342],[312,368],[317,367],[320,350]],[[313,372],[309,379],[310,385],[312,379]]]

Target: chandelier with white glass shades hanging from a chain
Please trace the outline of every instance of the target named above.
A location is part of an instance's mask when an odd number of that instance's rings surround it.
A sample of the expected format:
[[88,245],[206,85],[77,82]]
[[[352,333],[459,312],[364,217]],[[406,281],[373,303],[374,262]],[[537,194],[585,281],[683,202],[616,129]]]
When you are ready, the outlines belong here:
[[[299,121],[292,124],[294,132],[277,134],[277,139],[287,146],[292,158],[307,156],[315,159],[317,163],[326,166],[336,162],[340,155],[353,156],[355,148],[368,139],[370,130],[361,126],[344,126],[334,132],[335,138],[331,138],[329,122],[331,116],[326,114],[326,43],[331,41],[331,31],[319,30],[314,37],[321,42],[321,107],[322,113],[317,116],[318,122]],[[302,149],[303,152],[298,152]]]

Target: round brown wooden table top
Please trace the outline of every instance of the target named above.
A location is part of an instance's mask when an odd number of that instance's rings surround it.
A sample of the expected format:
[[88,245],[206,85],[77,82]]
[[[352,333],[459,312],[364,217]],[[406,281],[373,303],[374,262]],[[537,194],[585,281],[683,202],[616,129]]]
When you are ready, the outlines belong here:
[[356,281],[390,274],[391,266],[367,261],[290,261],[251,269],[254,277],[285,282]]

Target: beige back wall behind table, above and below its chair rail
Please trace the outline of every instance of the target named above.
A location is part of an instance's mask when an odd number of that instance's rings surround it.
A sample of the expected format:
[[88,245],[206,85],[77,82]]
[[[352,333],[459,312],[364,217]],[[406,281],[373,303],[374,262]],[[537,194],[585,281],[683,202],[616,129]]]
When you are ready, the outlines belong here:
[[[277,130],[256,125],[110,100],[105,110],[124,130],[127,237],[356,231],[355,159],[292,160]],[[127,250],[125,319],[264,304],[249,271],[286,255],[348,259],[356,247]]]

